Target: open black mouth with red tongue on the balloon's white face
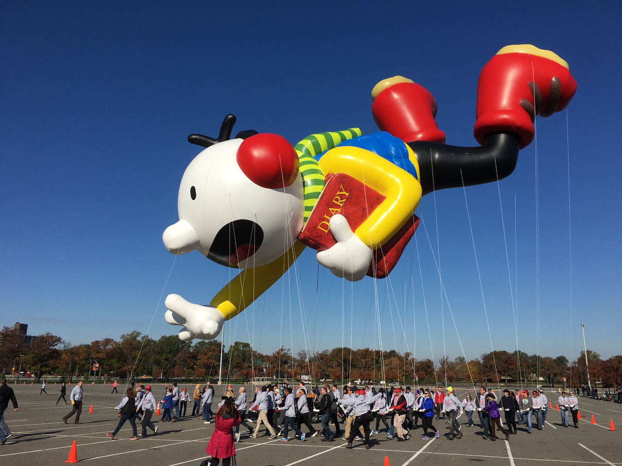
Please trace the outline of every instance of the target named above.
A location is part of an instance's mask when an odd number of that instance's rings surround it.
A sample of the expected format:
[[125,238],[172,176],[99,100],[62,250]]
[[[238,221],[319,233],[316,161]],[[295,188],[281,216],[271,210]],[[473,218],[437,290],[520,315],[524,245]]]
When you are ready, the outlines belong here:
[[251,220],[236,220],[223,226],[210,247],[207,257],[227,267],[238,263],[257,252],[264,240],[264,231]]

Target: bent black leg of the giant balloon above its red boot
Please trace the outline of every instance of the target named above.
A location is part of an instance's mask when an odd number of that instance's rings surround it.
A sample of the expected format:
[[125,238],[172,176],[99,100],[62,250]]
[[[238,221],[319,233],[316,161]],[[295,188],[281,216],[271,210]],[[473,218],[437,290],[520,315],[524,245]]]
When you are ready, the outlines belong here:
[[[496,133],[477,147],[460,147],[438,142],[407,143],[419,162],[423,194],[445,188],[482,185],[501,180],[514,171],[519,143],[512,134]],[[434,168],[434,183],[432,182]]]

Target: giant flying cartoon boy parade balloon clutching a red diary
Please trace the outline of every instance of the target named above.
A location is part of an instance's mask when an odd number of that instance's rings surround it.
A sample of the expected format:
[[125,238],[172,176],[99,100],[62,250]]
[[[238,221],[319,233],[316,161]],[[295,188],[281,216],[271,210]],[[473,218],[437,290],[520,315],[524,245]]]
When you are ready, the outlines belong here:
[[421,196],[500,180],[534,137],[536,115],[569,104],[577,89],[568,63],[550,50],[509,45],[486,63],[477,87],[480,146],[446,145],[432,94],[395,76],[372,90],[381,132],[314,134],[292,147],[276,134],[246,130],[230,139],[233,115],[183,174],[179,222],[162,239],[173,254],[198,250],[241,268],[208,306],[179,295],[165,319],[182,340],[215,338],[223,323],[272,286],[306,246],[347,280],[387,276],[417,228]]

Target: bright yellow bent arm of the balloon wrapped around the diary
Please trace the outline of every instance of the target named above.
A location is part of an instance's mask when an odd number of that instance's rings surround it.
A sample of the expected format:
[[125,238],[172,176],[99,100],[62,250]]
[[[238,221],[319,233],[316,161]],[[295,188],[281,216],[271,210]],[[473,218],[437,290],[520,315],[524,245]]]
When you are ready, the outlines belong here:
[[336,147],[318,163],[324,173],[345,173],[386,197],[355,231],[371,249],[386,244],[419,206],[422,193],[419,181],[369,150]]

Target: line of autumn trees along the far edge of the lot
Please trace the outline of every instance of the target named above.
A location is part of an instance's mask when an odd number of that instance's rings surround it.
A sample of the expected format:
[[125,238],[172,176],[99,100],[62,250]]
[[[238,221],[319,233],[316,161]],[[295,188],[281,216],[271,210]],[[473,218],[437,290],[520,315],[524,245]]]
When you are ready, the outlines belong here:
[[[219,376],[232,381],[253,377],[297,380],[308,375],[314,380],[326,378],[338,383],[384,380],[417,386],[456,382],[563,386],[564,378],[566,386],[587,385],[583,351],[572,362],[564,355],[529,355],[520,350],[488,352],[469,361],[463,356],[452,359],[444,355],[434,362],[416,359],[409,352],[348,347],[313,354],[301,350],[295,355],[281,347],[271,354],[261,354],[246,342],[236,341],[221,348],[221,343],[215,340],[183,342],[176,335],[155,340],[139,331],[123,334],[119,340],[105,338],[81,345],[45,333],[27,345],[11,327],[3,327],[0,342],[2,373],[17,375],[21,366],[21,377],[30,373],[37,381],[51,375],[67,381],[75,378],[216,380]],[[599,381],[603,387],[622,385],[622,355],[603,360],[598,353],[588,350],[587,359],[592,381]],[[93,370],[94,364],[98,364],[98,370]]]

